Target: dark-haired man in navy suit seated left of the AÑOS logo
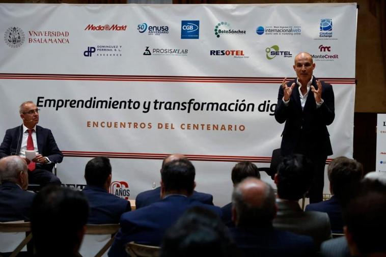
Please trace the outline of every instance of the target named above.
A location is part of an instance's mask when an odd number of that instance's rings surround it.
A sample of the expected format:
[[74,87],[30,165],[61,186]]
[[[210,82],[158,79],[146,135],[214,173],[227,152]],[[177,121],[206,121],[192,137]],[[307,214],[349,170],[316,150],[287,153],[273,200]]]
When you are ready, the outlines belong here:
[[108,192],[112,178],[110,160],[96,157],[86,164],[87,186],[83,193],[89,200],[90,224],[119,223],[122,213],[131,211],[130,202]]

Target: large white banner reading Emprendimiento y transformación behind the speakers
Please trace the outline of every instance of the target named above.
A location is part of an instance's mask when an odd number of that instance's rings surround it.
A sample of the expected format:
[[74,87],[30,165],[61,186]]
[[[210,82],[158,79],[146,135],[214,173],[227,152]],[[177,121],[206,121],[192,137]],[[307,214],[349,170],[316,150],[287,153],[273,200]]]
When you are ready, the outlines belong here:
[[273,111],[300,51],[333,84],[329,158],[352,156],[356,14],[356,4],[0,4],[0,131],[33,100],[65,155],[63,183],[85,184],[86,162],[108,156],[113,192],[135,198],[159,184],[160,159],[182,153],[197,190],[224,205],[235,162],[268,166],[280,147]]

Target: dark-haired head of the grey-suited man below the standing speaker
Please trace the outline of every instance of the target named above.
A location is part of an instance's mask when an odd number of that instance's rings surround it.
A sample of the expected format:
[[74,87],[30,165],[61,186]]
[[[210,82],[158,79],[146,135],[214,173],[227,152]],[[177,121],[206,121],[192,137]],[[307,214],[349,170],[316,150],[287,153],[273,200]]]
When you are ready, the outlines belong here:
[[313,174],[314,166],[306,156],[285,156],[278,166],[279,197],[298,201],[310,189]]

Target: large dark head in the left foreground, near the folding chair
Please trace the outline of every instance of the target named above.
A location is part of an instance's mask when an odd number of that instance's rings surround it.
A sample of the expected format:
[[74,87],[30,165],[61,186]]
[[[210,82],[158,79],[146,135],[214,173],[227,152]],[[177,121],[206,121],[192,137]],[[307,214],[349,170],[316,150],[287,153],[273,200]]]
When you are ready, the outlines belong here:
[[78,233],[88,217],[89,204],[81,191],[44,187],[31,208],[31,229],[37,254],[43,257],[74,255],[81,244]]

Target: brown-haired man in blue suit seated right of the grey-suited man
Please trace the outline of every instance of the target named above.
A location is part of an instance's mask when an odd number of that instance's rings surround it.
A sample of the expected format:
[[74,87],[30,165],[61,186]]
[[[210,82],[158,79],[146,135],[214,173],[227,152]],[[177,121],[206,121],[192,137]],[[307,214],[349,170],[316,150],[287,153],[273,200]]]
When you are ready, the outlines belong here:
[[[354,159],[338,157],[328,165],[330,199],[306,206],[306,211],[318,211],[328,214],[333,233],[343,233],[341,203],[350,196],[351,188],[359,185],[363,176],[363,166]],[[345,196],[345,193],[348,195]]]

